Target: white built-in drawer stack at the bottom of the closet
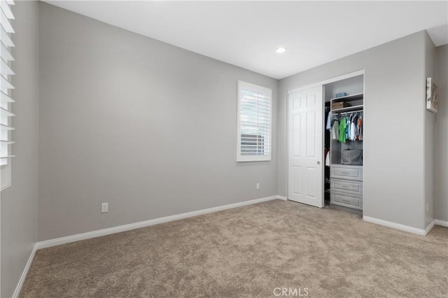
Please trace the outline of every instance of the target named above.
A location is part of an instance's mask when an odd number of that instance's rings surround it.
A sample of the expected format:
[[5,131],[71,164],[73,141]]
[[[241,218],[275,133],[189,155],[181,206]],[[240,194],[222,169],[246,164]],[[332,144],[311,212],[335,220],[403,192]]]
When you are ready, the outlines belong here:
[[330,165],[330,202],[363,210],[363,166]]

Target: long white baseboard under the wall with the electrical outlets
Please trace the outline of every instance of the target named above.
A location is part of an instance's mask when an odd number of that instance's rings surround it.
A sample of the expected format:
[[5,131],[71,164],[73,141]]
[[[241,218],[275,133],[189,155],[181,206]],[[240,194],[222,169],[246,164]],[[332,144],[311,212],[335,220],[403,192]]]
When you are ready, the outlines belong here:
[[216,212],[216,211],[223,211],[223,210],[230,209],[230,208],[237,208],[237,207],[241,207],[241,206],[257,204],[257,203],[261,203],[263,201],[271,201],[273,199],[281,199],[281,197],[275,195],[272,197],[265,197],[265,198],[261,198],[261,199],[252,199],[249,201],[241,201],[241,202],[235,203],[235,204],[217,206],[217,207],[202,209],[202,210],[198,210],[198,211],[170,215],[170,216],[166,216],[164,218],[155,218],[153,220],[145,220],[143,222],[134,222],[129,225],[120,225],[118,227],[109,227],[107,229],[99,229],[97,231],[76,234],[76,235],[71,235],[71,236],[65,236],[65,237],[61,237],[61,238],[57,238],[57,239],[40,241],[40,242],[36,243],[36,247],[37,247],[37,249],[41,249],[41,248],[49,248],[52,246],[59,246],[61,244],[71,243],[71,242],[75,242],[75,241],[80,241],[80,240],[91,239],[91,238],[95,238],[95,237],[99,237],[99,236],[105,236],[105,235],[125,232],[125,231],[129,231],[131,229],[139,229],[141,227],[158,225],[163,222],[171,222],[173,220],[181,220],[183,218],[191,218],[193,216],[212,213],[212,212]]

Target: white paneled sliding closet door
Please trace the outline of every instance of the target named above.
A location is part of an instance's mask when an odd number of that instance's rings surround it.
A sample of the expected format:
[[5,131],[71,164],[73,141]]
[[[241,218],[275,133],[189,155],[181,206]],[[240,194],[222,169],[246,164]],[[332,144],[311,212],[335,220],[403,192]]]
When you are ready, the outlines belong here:
[[288,95],[288,199],[323,208],[322,85]]

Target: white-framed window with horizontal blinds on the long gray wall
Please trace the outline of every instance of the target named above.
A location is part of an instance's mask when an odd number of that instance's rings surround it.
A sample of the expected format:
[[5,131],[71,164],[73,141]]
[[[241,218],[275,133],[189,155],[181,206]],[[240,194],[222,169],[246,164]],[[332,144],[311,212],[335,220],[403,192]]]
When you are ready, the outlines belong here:
[[272,90],[238,81],[237,162],[271,160]]

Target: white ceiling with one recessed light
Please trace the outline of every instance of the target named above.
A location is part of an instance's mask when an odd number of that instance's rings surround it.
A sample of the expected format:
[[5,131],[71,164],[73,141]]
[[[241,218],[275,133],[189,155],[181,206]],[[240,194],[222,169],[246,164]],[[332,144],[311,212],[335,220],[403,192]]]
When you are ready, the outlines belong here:
[[448,1],[45,2],[272,78],[423,29],[448,43]]

